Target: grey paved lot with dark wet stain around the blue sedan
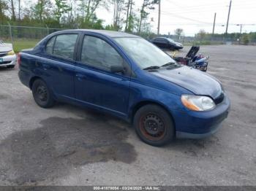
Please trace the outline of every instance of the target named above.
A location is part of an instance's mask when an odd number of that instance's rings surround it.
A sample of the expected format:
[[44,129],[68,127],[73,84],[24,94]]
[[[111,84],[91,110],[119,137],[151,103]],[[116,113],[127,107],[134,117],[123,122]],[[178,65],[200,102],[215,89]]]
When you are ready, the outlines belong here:
[[39,108],[18,69],[0,69],[0,185],[256,185],[256,47],[201,52],[230,96],[230,115],[208,139],[161,148],[105,114]]

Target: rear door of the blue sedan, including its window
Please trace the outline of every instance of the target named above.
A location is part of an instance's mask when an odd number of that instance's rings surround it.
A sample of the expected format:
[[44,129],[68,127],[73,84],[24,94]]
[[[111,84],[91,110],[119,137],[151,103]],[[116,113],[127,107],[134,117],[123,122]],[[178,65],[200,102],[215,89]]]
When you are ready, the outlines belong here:
[[43,57],[36,63],[45,75],[48,85],[58,97],[75,98],[75,49],[78,34],[53,36],[45,45]]

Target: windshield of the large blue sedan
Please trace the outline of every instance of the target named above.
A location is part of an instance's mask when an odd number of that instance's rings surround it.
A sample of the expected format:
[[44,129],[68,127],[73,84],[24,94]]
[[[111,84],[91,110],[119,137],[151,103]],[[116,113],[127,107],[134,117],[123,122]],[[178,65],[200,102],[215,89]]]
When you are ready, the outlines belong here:
[[115,40],[142,69],[176,63],[169,55],[145,39],[118,37]]

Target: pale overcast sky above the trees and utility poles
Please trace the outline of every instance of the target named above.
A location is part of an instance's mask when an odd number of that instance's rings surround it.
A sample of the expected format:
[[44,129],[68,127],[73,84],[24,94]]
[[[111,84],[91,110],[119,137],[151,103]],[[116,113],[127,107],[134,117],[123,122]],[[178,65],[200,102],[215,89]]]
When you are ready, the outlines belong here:
[[[138,9],[142,0],[134,0],[135,9]],[[217,12],[216,33],[224,33],[227,23],[229,0],[161,0],[161,34],[173,34],[176,28],[183,28],[186,36],[193,36],[200,29],[212,32],[214,12]],[[113,11],[105,9],[97,10],[97,17],[105,20],[105,24],[113,22]],[[148,17],[154,20],[153,31],[157,32],[158,7],[152,10]],[[228,32],[239,32],[244,24],[242,32],[256,31],[256,0],[233,0],[230,11],[230,26]],[[254,25],[252,25],[254,24]],[[222,26],[225,25],[225,26]]]

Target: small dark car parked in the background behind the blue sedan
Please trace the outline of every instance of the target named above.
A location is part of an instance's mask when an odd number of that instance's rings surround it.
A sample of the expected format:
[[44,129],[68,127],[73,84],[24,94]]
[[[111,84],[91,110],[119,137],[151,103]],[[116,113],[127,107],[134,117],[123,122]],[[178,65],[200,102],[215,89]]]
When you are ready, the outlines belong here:
[[173,39],[165,37],[157,37],[151,40],[151,42],[162,50],[181,50],[183,45],[179,42],[175,42]]

